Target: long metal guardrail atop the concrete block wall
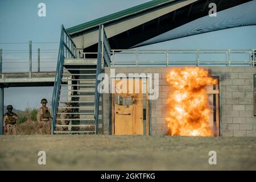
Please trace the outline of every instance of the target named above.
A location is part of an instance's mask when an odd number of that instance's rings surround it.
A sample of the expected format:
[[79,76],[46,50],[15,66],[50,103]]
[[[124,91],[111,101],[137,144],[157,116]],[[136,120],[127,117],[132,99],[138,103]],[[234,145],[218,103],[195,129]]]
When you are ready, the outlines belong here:
[[[112,66],[172,66],[172,65],[250,65],[255,66],[256,64],[256,49],[249,50],[143,50],[143,49],[112,49]],[[191,60],[172,60],[171,58],[175,55],[188,55],[190,54],[193,59]],[[244,60],[232,59],[233,55],[243,54],[247,55],[248,58]],[[121,60],[120,57],[123,55],[134,55],[134,59]],[[148,55],[151,60],[143,60],[140,56]],[[162,55],[164,59],[153,59],[152,55]],[[208,59],[201,59],[201,56],[208,55]],[[225,56],[224,60],[210,60],[213,55],[218,57]],[[117,59],[119,56],[119,59]]]

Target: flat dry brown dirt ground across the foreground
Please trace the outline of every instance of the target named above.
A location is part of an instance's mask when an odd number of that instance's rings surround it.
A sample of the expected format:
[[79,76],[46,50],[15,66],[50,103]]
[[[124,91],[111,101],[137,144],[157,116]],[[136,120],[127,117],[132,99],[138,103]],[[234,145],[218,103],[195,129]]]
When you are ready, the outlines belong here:
[[[46,165],[38,164],[42,150]],[[209,151],[217,165],[208,163]],[[0,169],[256,170],[256,138],[3,135]]]

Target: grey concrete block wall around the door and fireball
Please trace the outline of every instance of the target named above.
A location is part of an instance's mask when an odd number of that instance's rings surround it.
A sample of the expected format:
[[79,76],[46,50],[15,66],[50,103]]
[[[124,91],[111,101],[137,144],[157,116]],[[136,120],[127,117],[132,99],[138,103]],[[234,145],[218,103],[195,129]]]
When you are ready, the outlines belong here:
[[[114,68],[114,67],[112,67]],[[172,67],[178,68],[178,67]],[[159,97],[151,100],[151,134],[167,135],[167,100],[171,93],[166,74],[171,67],[115,67],[115,74],[158,73]],[[220,78],[220,134],[224,137],[256,137],[254,117],[253,75],[254,67],[204,67]],[[110,75],[110,68],[105,69]],[[110,103],[109,94],[104,94],[104,103]],[[108,109],[111,105],[108,105]],[[104,112],[104,133],[109,133],[110,113]]]

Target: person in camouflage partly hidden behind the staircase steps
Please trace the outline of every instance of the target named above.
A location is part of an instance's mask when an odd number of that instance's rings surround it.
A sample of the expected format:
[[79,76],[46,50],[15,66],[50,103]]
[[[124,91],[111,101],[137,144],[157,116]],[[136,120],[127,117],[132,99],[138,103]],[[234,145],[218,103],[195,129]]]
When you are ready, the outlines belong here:
[[[67,102],[66,106],[71,107],[71,103]],[[58,125],[69,125],[70,120],[68,120],[68,119],[71,119],[72,115],[68,114],[68,113],[71,113],[71,112],[72,112],[71,108],[65,108],[63,110],[63,112],[60,114],[60,119],[61,120],[57,121],[57,124]],[[57,130],[58,131],[68,131],[68,126],[59,126],[59,127],[57,127]]]

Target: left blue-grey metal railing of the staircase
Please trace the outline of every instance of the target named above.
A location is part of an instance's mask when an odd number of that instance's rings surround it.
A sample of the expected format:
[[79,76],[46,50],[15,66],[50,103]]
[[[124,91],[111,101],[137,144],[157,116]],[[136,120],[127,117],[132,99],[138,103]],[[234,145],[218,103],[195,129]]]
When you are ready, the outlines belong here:
[[60,86],[61,79],[63,76],[63,64],[65,58],[74,58],[77,57],[77,48],[76,44],[71,39],[71,36],[68,35],[64,26],[61,25],[61,34],[60,34],[60,47],[59,55],[57,59],[56,67],[56,76],[52,93],[52,134],[55,127],[56,117],[57,117],[57,107],[59,105],[59,96],[60,96]]

